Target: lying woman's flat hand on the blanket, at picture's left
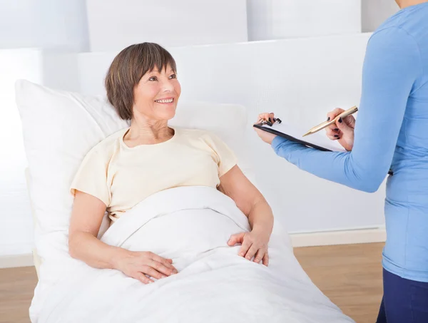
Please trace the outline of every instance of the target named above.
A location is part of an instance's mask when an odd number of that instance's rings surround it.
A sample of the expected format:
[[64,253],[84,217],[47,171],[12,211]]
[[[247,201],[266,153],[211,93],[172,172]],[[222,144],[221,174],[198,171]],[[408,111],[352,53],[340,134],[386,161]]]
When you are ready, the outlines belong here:
[[133,277],[144,284],[149,284],[153,280],[146,275],[160,280],[177,274],[178,271],[171,265],[172,262],[173,260],[160,257],[153,252],[121,249],[114,262],[114,267],[128,277]]

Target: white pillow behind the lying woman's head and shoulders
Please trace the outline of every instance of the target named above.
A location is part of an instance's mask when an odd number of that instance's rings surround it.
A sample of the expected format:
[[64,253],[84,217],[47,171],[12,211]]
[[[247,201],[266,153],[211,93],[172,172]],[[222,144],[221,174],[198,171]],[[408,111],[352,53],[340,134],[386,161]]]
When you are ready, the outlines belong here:
[[[128,127],[101,96],[54,91],[25,80],[16,82],[24,147],[29,162],[29,193],[36,222],[36,250],[52,273],[68,257],[68,221],[73,205],[69,187],[83,157],[111,133]],[[253,180],[245,153],[247,114],[243,106],[179,103],[170,125],[210,130],[238,156],[238,164]],[[253,180],[253,183],[254,180]],[[46,280],[52,277],[46,277]]]

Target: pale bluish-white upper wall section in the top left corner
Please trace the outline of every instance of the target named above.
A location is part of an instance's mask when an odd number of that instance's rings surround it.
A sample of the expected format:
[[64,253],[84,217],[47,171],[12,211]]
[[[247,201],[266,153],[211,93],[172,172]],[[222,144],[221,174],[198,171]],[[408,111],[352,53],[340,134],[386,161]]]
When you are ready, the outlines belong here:
[[0,0],[0,48],[88,48],[85,0]]

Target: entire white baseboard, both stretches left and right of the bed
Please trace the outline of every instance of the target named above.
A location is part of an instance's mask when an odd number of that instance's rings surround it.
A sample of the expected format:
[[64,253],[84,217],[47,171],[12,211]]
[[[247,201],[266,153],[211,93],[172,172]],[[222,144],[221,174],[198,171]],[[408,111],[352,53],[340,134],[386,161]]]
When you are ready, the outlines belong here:
[[[323,245],[352,245],[356,243],[385,242],[384,227],[361,230],[291,233],[292,247],[314,247]],[[1,256],[0,268],[34,266],[33,255]]]

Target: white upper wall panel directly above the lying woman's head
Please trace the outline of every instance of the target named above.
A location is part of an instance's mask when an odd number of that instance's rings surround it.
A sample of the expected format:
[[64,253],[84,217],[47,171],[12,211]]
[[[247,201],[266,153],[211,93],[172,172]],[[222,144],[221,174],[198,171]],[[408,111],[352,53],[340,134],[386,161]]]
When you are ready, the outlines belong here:
[[86,0],[91,51],[247,41],[245,0]]

